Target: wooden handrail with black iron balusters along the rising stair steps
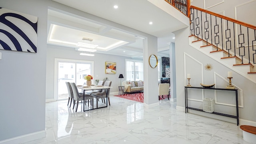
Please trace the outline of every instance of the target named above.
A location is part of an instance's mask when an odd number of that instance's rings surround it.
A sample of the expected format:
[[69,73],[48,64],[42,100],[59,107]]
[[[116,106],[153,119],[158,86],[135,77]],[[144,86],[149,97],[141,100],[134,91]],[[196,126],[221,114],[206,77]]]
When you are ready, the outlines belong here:
[[241,64],[256,64],[256,26],[190,6],[190,32],[206,45],[227,51],[228,57],[238,56]]

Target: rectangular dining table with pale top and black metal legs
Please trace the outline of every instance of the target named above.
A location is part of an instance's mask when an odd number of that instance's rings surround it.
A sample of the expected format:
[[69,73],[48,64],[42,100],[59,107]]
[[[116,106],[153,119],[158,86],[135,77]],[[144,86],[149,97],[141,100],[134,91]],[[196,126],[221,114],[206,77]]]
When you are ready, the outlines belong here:
[[[82,91],[83,91],[83,98],[84,98],[87,90],[104,90],[104,89],[106,89],[106,106],[99,107],[99,108],[106,108],[106,107],[108,107],[108,88],[112,88],[112,86],[91,85],[91,86],[77,86],[77,88],[82,89]],[[90,110],[94,110],[94,109],[98,109],[98,108],[92,108]],[[85,103],[83,104],[83,111],[84,112],[88,111],[88,110],[85,110]]]

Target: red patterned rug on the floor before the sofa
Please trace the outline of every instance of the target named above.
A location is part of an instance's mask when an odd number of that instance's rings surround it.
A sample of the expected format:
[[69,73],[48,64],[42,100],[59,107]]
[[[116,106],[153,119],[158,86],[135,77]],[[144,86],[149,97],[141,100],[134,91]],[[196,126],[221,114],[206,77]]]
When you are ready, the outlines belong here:
[[[122,95],[115,95],[115,96],[120,97],[120,98],[125,98],[128,100],[134,100],[136,102],[144,102],[144,93],[143,92],[132,93],[132,94],[122,94]],[[160,96],[160,100],[166,99],[166,98],[167,98],[167,95],[164,96],[164,98],[162,98],[162,96]],[[169,96],[169,98],[170,98],[170,96]]]

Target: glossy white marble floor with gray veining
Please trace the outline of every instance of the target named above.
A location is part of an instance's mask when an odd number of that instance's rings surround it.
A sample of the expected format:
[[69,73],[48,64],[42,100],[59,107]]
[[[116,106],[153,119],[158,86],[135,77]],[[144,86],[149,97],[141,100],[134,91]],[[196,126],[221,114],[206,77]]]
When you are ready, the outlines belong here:
[[[46,103],[46,137],[25,144],[248,144],[236,124],[110,96],[111,106],[78,112],[68,100]],[[99,102],[102,106],[102,102]]]

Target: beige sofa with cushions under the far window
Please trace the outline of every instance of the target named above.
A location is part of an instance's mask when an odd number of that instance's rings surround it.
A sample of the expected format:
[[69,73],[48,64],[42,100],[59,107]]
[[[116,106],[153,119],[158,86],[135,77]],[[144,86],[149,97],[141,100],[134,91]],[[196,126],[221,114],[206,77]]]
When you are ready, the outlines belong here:
[[124,80],[122,82],[122,86],[124,86],[124,92],[131,93],[131,92],[142,92],[144,89],[144,82],[139,81],[130,81]]

